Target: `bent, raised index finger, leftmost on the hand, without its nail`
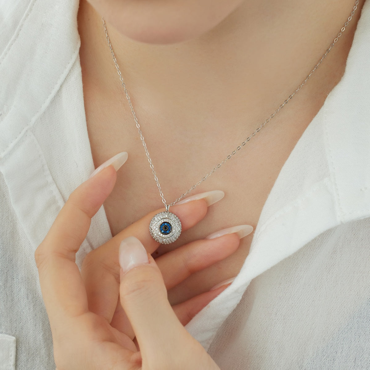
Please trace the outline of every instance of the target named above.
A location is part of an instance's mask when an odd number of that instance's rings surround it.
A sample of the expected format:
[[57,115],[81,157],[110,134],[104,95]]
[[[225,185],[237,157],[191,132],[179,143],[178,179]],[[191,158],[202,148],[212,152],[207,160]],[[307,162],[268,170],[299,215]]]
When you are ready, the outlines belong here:
[[61,316],[88,312],[87,295],[75,255],[85,239],[91,217],[117,179],[110,165],[78,186],[35,251],[41,292],[50,325]]

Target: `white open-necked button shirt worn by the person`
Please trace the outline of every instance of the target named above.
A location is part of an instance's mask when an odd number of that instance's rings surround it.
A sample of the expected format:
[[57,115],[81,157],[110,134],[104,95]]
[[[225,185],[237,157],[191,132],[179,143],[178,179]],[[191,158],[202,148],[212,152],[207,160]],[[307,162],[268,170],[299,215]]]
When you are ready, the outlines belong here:
[[[78,0],[0,0],[0,369],[54,369],[34,250],[94,169]],[[370,368],[370,2],[239,275],[188,325],[222,370]],[[101,208],[76,258],[111,238]]]

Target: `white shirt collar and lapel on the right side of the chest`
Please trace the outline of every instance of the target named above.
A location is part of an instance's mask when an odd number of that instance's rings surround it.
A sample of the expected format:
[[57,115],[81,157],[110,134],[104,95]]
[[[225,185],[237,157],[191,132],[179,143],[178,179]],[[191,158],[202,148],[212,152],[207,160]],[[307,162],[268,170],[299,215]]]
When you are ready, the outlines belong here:
[[370,217],[369,24],[366,1],[344,75],[280,171],[240,273],[186,326],[206,349],[253,278],[330,228]]

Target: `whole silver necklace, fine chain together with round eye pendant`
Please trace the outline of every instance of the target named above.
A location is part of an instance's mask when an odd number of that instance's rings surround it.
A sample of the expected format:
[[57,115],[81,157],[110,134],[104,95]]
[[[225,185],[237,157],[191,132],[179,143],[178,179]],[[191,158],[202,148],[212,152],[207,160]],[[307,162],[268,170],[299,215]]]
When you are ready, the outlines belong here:
[[250,140],[251,137],[255,136],[256,133],[259,132],[260,129],[262,127],[264,127],[266,125],[266,123],[268,123],[273,117],[275,117],[275,114],[278,113],[285,106],[285,104],[287,104],[289,102],[289,100],[292,99],[293,96],[297,94],[297,92],[307,83],[307,81],[309,80],[309,78],[311,77],[311,75],[314,73],[314,71],[316,71],[316,69],[322,63],[322,61],[324,60],[324,58],[326,57],[326,55],[332,49],[332,47],[334,46],[334,44],[338,41],[339,37],[342,36],[342,33],[344,32],[344,30],[348,26],[350,20],[352,19],[353,15],[354,15],[354,12],[357,9],[357,5],[358,4],[359,4],[359,0],[356,0],[356,3],[354,5],[354,7],[353,7],[353,10],[351,11],[351,14],[348,17],[346,23],[344,23],[344,26],[342,27],[342,29],[340,30],[340,32],[337,34],[336,38],[334,38],[332,44],[326,50],[326,53],[322,56],[322,58],[319,60],[319,62],[315,65],[315,67],[313,68],[313,70],[306,77],[306,79],[302,82],[302,84],[300,84],[297,87],[297,89],[291,95],[289,95],[289,97],[282,104],[280,104],[279,108],[277,108],[270,115],[270,117],[265,120],[265,122],[262,122],[262,124],[255,130],[255,132],[253,132],[240,145],[238,145],[238,147],[236,147],[236,149],[234,151],[232,151],[231,154],[229,154],[218,165],[216,165],[212,169],[212,171],[208,172],[201,180],[199,180],[198,182],[196,182],[190,189],[186,190],[186,192],[184,194],[182,194],[179,198],[175,199],[175,201],[173,201],[172,203],[169,203],[169,204],[166,202],[166,199],[164,198],[164,195],[163,195],[163,192],[162,192],[162,189],[161,189],[161,185],[159,184],[157,174],[155,173],[154,165],[153,165],[152,160],[150,158],[150,155],[149,155],[149,152],[148,152],[148,148],[147,148],[147,144],[145,143],[144,136],[142,134],[142,131],[141,131],[139,122],[138,122],[138,120],[136,118],[136,114],[135,114],[134,108],[132,107],[131,100],[130,100],[130,97],[128,95],[127,89],[126,89],[126,85],[125,85],[125,83],[123,81],[120,68],[118,67],[117,59],[116,59],[116,57],[114,55],[114,52],[113,52],[113,49],[112,49],[112,45],[111,45],[111,42],[109,40],[108,31],[107,31],[107,25],[105,24],[104,17],[102,17],[101,20],[102,20],[103,26],[104,26],[105,37],[106,37],[106,39],[108,41],[108,46],[110,48],[110,51],[111,51],[111,54],[112,54],[112,57],[113,57],[113,61],[114,61],[115,67],[117,68],[117,73],[120,76],[121,85],[122,85],[122,87],[124,89],[124,92],[126,94],[126,98],[128,100],[129,107],[131,108],[132,115],[134,116],[136,127],[138,129],[138,132],[139,132],[139,135],[140,135],[140,139],[142,141],[142,145],[144,146],[144,149],[145,149],[145,154],[147,155],[148,162],[149,162],[150,168],[152,170],[152,174],[154,176],[155,182],[156,182],[157,187],[158,187],[158,190],[159,190],[159,195],[161,196],[162,202],[163,202],[163,204],[166,207],[166,211],[157,213],[157,215],[155,215],[152,218],[152,220],[151,220],[151,222],[149,224],[149,232],[150,232],[150,234],[151,234],[151,236],[153,237],[154,240],[156,240],[157,242],[159,242],[161,244],[169,244],[169,243],[173,243],[175,240],[178,239],[178,237],[181,234],[181,221],[180,221],[180,219],[174,213],[169,212],[169,210],[168,210],[169,207],[170,206],[173,206],[180,199],[184,198],[187,194],[189,194],[189,192],[191,192],[192,190],[194,190],[198,185],[200,185],[209,176],[211,176],[213,174],[213,172],[215,172],[218,168],[220,168],[223,164],[225,164],[226,161],[228,161],[233,155],[235,155]]

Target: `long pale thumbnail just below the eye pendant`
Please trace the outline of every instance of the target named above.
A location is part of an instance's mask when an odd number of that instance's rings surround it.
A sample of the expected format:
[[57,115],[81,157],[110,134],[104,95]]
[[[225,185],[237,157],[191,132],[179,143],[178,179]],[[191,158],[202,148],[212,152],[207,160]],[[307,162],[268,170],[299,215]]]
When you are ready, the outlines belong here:
[[147,250],[135,236],[129,236],[122,240],[118,252],[118,259],[124,273],[134,267],[149,263]]

